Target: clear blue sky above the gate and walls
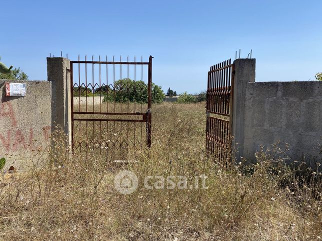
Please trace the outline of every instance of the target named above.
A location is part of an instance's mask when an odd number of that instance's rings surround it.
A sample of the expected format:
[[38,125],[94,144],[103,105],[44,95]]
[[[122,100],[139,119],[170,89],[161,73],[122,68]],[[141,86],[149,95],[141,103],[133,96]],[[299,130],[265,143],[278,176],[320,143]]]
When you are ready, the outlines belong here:
[[178,93],[206,88],[210,65],[241,49],[256,81],[314,79],[322,71],[321,0],[1,1],[0,56],[31,80],[46,57],[153,58],[152,80]]

